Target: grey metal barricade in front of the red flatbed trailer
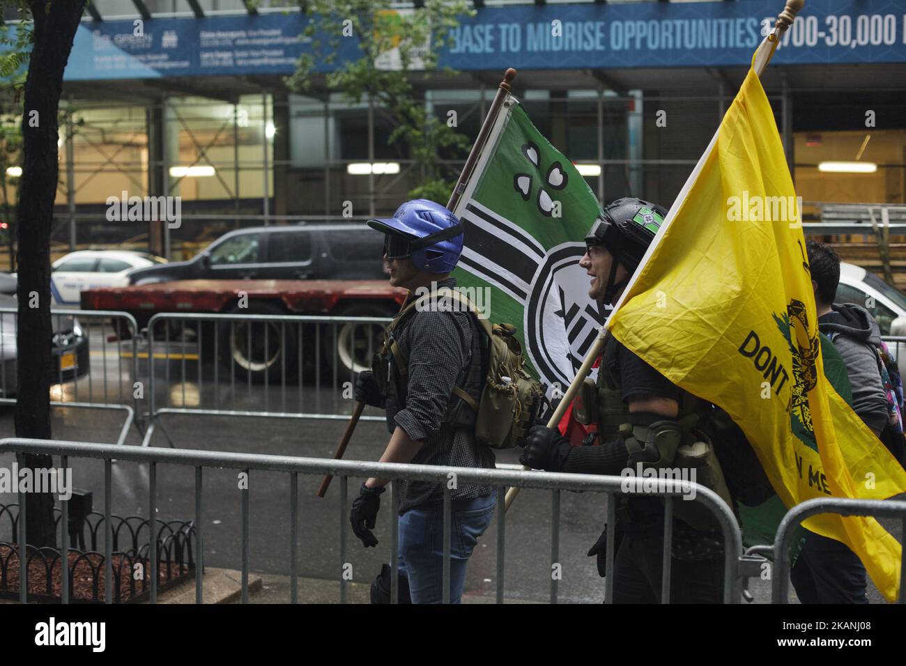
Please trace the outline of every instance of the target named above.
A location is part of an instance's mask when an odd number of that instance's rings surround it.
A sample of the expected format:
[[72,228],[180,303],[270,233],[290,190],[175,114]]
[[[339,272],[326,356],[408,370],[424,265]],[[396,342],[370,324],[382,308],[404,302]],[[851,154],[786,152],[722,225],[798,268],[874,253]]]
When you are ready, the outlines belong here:
[[[159,421],[162,414],[349,419],[356,372],[371,367],[379,333],[389,322],[384,317],[155,314],[147,329],[150,409],[143,446],[149,446],[157,428],[173,446]],[[163,361],[162,369],[156,361]],[[194,370],[187,362],[195,363]],[[365,414],[361,420],[384,417]]]

